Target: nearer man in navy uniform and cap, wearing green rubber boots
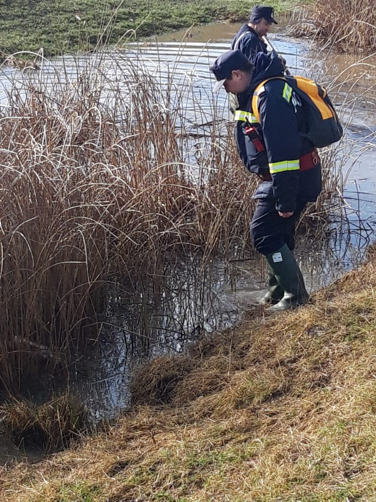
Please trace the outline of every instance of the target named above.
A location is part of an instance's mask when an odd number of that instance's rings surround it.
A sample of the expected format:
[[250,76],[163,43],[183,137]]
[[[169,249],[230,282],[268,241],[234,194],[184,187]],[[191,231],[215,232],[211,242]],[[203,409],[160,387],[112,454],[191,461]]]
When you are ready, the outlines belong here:
[[[272,304],[271,312],[302,305],[308,293],[292,254],[295,223],[321,191],[320,159],[305,136],[305,109],[274,52],[259,53],[253,65],[240,50],[229,51],[210,70],[215,90],[224,86],[238,95],[236,143],[246,168],[262,180],[253,195],[258,203],[250,228],[267,262],[268,292],[262,303]],[[254,93],[260,122],[252,108]]]

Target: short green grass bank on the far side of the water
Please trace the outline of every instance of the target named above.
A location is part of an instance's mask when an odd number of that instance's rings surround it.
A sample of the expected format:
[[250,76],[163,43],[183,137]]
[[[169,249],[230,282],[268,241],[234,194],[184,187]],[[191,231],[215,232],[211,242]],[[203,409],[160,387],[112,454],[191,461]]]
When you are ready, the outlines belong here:
[[[297,2],[275,0],[276,12]],[[20,50],[45,49],[46,55],[95,47],[104,40],[117,42],[128,30],[138,36],[153,35],[192,24],[216,20],[245,19],[246,0],[3,0],[0,48],[7,54]],[[119,7],[119,8],[118,8]]]

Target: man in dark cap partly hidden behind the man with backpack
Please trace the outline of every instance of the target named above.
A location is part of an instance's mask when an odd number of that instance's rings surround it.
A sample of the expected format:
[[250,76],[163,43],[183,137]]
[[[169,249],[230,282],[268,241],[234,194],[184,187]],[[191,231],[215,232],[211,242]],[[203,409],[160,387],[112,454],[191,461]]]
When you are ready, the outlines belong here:
[[239,49],[254,63],[258,52],[266,54],[268,51],[262,37],[268,34],[273,23],[278,24],[274,19],[274,9],[257,5],[249,16],[249,23],[244,24],[234,37],[231,49]]

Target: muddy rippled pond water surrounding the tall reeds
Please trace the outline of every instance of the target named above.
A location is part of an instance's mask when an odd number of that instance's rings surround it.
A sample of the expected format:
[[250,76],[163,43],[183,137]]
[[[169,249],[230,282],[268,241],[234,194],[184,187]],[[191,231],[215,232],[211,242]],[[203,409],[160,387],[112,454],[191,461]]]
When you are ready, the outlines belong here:
[[[158,45],[153,40],[130,44],[126,51],[105,53],[102,63],[107,68],[109,81],[116,78],[119,66],[126,67],[128,58],[140,60],[143,65],[141,71],[145,71],[146,67],[158,75],[161,81],[165,80],[167,70],[171,69],[175,72],[176,85],[186,85],[186,78],[189,77],[194,82],[193,92],[200,103],[201,114],[196,116],[192,108],[191,112],[187,112],[187,119],[191,123],[209,122],[212,118],[213,81],[208,64],[229,49],[230,39],[239,27],[234,24],[215,24],[198,27],[188,35],[176,32],[162,36]],[[349,116],[348,108],[353,108],[343,154],[343,172],[350,170],[344,189],[345,207],[338,210],[331,232],[324,242],[317,244],[314,239],[310,241],[300,237],[297,248],[308,287],[314,290],[356,267],[373,238],[376,225],[376,157],[373,137],[369,134],[376,130],[372,88],[375,75],[369,66],[364,78],[357,81],[358,73],[365,66],[355,65],[352,56],[322,54],[317,48],[311,47],[308,41],[291,39],[279,32],[270,35],[270,40],[284,54],[292,73],[319,74],[323,81],[335,80],[337,104],[346,100],[348,103],[347,110],[344,110],[345,117]],[[84,66],[92,57],[82,57],[78,65],[69,56],[64,60],[57,59],[42,68],[42,77],[48,85],[64,63],[65,78],[74,81],[80,73],[80,65]],[[367,64],[371,62],[369,58]],[[342,85],[346,74],[351,74],[353,78],[352,87]],[[14,78],[22,83],[24,77],[9,68],[0,74],[2,106],[7,105],[6,90]],[[218,104],[223,110],[223,117],[228,119],[224,93],[218,95]],[[183,125],[185,130],[189,129],[189,124]],[[195,127],[197,130],[197,125]],[[193,162],[189,155],[187,159]],[[116,416],[129,406],[129,380],[135,364],[158,354],[178,353],[187,343],[205,332],[234,326],[242,314],[252,308],[257,297],[263,294],[264,275],[263,265],[257,256],[248,257],[247,260],[235,256],[226,265],[216,262],[209,264],[205,270],[200,263],[189,261],[180,263],[170,271],[157,302],[151,293],[145,302],[139,291],[127,290],[126,287],[121,292],[114,292],[109,296],[108,315],[103,324],[99,351],[84,356],[78,354],[76,362],[70,367],[71,391],[86,401],[96,419]],[[149,286],[151,292],[153,285],[150,283]],[[148,288],[145,289],[147,291]],[[145,304],[148,306],[146,310]],[[27,386],[24,389],[25,395],[33,400],[41,400],[47,396],[50,388],[53,387],[56,392],[66,386],[65,380],[52,382],[46,380],[44,375],[41,380],[44,380],[44,385],[36,381],[34,388]],[[46,382],[49,382],[48,385]]]

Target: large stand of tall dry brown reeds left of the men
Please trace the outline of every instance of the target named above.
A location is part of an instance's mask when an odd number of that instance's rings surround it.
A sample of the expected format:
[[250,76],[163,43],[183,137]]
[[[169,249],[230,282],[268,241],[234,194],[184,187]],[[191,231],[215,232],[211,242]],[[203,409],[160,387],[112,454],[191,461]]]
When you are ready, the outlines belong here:
[[[3,387],[17,388],[46,360],[66,367],[73,347],[95,340],[119,278],[142,285],[178,254],[205,262],[249,247],[257,180],[209,89],[200,99],[176,65],[151,72],[124,52],[48,63],[8,82],[0,109]],[[325,176],[314,209],[322,218],[339,179],[330,169]]]

